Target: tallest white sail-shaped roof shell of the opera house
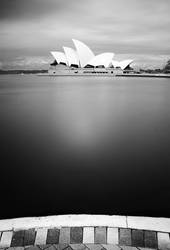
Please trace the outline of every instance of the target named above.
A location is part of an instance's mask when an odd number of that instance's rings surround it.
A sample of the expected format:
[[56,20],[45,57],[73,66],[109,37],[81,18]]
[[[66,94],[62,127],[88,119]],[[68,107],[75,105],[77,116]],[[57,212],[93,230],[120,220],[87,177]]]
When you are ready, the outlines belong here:
[[95,56],[91,49],[84,43],[72,39],[80,61],[80,66],[84,67]]

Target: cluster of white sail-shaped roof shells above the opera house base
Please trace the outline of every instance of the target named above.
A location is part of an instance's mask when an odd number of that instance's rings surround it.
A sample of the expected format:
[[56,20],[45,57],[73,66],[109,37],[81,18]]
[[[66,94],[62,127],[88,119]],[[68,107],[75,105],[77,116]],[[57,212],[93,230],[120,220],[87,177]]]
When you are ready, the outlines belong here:
[[[114,53],[106,52],[95,55],[93,51],[83,42],[72,39],[76,48],[63,47],[64,52],[51,51],[55,61],[51,63],[51,67],[57,65],[65,65],[67,68],[79,69],[115,69],[126,72],[132,72],[130,64],[133,60],[114,61]],[[58,67],[57,67],[58,68]]]

